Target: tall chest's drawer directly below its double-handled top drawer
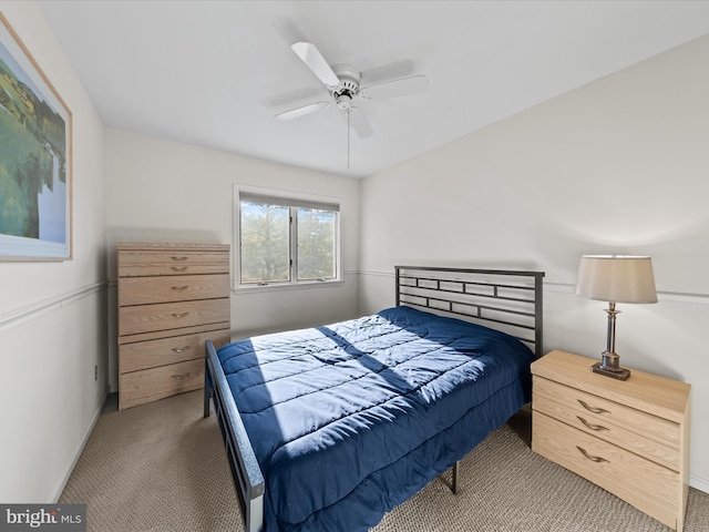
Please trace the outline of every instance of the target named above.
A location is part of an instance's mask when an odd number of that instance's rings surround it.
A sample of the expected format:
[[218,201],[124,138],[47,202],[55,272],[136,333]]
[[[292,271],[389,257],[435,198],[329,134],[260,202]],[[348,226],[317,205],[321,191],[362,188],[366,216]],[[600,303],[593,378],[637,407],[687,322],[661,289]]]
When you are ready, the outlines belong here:
[[214,299],[228,293],[229,276],[224,274],[127,277],[121,279],[119,305]]

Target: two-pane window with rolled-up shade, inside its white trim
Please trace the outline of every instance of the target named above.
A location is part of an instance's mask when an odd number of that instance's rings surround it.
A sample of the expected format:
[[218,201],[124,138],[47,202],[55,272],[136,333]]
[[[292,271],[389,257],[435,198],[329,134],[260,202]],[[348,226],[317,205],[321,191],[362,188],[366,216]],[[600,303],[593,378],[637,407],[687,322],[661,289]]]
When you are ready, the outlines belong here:
[[337,203],[237,192],[238,285],[340,279]]

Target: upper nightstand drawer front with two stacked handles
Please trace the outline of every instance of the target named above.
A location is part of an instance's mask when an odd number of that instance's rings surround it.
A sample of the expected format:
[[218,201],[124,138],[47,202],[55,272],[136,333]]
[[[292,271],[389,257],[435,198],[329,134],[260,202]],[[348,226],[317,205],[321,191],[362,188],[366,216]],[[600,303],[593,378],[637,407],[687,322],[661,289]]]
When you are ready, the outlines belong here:
[[533,408],[679,471],[677,423],[540,377],[534,377]]

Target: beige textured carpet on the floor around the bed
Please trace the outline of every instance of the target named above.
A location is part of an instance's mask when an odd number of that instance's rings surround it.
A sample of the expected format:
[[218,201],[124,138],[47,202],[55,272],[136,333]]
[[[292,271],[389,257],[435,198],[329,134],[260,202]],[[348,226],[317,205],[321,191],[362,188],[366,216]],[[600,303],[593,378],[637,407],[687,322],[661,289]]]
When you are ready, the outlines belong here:
[[[99,419],[60,500],[88,505],[90,531],[243,530],[215,418],[202,418],[202,391],[110,410]],[[458,495],[443,477],[372,532],[669,530],[534,454],[528,431],[530,416],[517,416],[463,459]],[[685,530],[709,531],[709,494],[690,490]]]

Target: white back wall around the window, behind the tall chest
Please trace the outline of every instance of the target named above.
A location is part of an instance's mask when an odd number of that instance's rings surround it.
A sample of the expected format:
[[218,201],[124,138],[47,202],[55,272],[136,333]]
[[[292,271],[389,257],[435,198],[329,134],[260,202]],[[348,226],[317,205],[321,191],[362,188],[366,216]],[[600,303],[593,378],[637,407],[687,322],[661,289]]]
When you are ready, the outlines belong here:
[[[233,337],[331,323],[357,314],[358,181],[121,130],[106,131],[106,172],[113,300],[116,242],[232,244],[233,188],[239,184],[339,198],[345,282],[233,293]],[[112,388],[117,382],[114,321],[115,317],[110,320]]]

